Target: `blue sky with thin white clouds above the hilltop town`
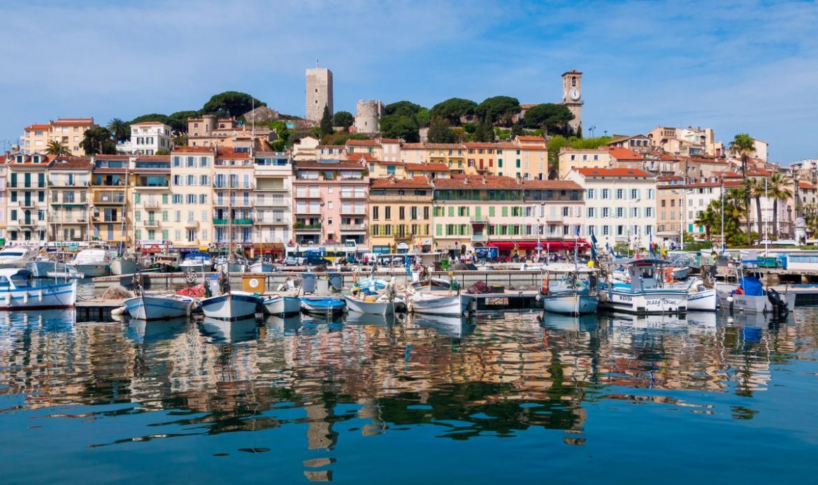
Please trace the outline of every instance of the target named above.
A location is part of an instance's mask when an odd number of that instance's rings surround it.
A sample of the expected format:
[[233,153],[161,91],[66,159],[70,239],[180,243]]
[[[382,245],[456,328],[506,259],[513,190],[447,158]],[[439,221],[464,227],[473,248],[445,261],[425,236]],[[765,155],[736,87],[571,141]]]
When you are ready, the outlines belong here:
[[29,123],[199,109],[217,92],[304,111],[304,69],[358,99],[560,101],[583,74],[596,133],[748,132],[818,156],[816,2],[3,2],[0,146]]

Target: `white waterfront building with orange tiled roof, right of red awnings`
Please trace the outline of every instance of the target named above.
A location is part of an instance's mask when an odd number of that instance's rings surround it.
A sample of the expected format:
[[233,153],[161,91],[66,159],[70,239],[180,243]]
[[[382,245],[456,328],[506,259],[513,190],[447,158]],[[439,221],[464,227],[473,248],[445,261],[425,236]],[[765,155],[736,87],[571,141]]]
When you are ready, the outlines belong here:
[[593,231],[603,246],[648,247],[656,231],[653,174],[636,168],[574,168],[566,178],[585,188],[585,234]]

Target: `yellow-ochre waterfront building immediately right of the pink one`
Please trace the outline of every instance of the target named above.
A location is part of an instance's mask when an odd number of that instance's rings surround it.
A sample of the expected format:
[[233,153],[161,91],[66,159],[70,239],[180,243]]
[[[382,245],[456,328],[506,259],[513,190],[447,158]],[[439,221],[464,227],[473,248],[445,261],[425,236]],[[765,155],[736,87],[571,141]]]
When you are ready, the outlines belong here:
[[379,178],[369,187],[369,236],[375,253],[432,249],[432,184],[426,177]]

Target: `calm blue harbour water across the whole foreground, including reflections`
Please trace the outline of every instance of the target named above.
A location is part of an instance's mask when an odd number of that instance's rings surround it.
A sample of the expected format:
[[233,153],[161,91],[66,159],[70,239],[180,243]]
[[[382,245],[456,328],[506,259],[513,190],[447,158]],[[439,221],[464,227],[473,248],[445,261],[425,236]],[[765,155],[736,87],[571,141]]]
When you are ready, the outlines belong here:
[[0,483],[815,483],[787,321],[0,313]]

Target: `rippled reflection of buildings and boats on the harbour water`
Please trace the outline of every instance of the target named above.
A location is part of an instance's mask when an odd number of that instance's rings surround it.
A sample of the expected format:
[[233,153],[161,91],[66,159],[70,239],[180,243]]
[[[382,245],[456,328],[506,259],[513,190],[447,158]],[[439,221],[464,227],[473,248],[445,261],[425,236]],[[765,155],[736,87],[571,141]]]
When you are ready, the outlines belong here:
[[[592,402],[672,402],[707,413],[713,405],[701,394],[685,402],[672,392],[766,391],[773,364],[815,353],[818,312],[799,312],[803,323],[490,313],[74,324],[66,312],[0,314],[0,395],[20,397],[19,409],[125,402],[137,412],[172,410],[162,424],[178,433],[164,437],[307,424],[311,450],[333,449],[344,433],[417,424],[456,440],[554,429],[582,445]],[[733,414],[754,412],[743,402]],[[122,433],[88,444],[156,438],[147,429]]]

